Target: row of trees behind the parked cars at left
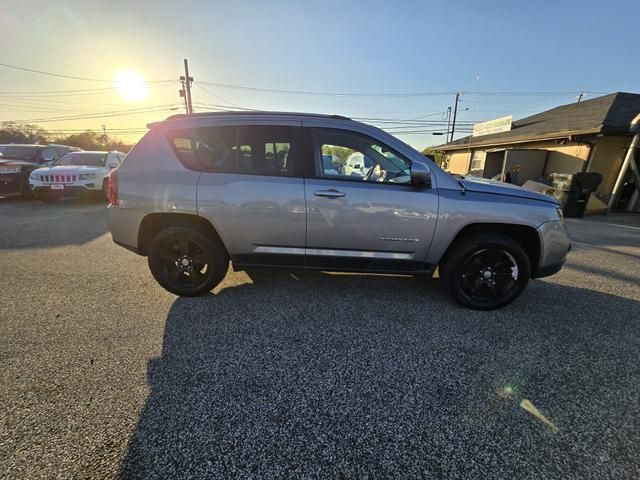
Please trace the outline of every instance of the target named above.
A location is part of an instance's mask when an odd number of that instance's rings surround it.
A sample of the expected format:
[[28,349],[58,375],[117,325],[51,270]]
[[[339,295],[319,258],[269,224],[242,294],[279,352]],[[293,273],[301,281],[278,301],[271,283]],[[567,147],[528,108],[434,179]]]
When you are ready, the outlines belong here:
[[71,135],[56,135],[34,124],[3,122],[0,125],[0,144],[3,143],[59,143],[78,147],[83,150],[118,150],[127,153],[133,145],[110,137],[104,133],[97,133],[91,129]]

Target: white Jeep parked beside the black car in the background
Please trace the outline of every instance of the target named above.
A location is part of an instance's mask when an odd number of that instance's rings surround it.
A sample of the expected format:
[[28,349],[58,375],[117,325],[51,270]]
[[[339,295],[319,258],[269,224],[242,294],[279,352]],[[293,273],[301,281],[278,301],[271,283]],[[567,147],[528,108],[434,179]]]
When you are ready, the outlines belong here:
[[107,197],[108,177],[124,159],[122,152],[71,152],[48,167],[31,172],[29,185],[43,202],[62,196],[94,193]]

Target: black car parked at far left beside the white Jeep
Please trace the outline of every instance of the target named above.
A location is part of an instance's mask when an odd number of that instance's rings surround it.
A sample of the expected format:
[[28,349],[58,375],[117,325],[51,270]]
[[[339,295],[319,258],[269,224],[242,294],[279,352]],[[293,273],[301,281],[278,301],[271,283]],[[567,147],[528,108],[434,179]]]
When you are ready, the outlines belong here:
[[29,174],[69,152],[81,151],[68,145],[0,145],[0,197],[31,196]]

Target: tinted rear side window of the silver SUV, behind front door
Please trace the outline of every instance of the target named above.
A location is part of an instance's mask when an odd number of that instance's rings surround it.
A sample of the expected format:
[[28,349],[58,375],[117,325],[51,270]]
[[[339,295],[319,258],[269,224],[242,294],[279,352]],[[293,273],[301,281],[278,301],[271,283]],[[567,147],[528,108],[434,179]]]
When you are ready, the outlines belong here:
[[278,126],[207,127],[169,133],[180,161],[192,170],[294,176],[294,129]]

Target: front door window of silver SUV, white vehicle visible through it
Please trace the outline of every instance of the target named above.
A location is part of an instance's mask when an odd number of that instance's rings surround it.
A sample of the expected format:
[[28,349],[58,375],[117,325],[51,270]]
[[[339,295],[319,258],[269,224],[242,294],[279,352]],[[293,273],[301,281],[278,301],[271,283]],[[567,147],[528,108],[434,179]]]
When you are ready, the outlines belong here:
[[411,183],[411,161],[355,132],[314,129],[316,175],[360,182]]

